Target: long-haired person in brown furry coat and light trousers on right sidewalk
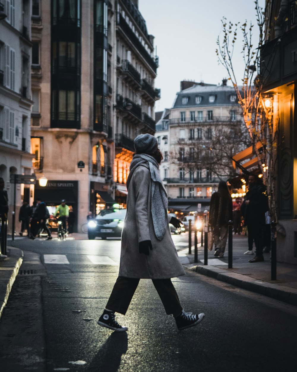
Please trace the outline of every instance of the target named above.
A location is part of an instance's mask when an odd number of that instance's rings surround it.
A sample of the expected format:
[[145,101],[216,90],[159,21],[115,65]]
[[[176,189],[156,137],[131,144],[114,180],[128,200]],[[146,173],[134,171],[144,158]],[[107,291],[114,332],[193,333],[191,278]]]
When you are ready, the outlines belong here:
[[224,257],[230,220],[232,220],[232,198],[227,183],[220,181],[218,191],[211,196],[209,208],[209,224],[212,227],[216,257]]

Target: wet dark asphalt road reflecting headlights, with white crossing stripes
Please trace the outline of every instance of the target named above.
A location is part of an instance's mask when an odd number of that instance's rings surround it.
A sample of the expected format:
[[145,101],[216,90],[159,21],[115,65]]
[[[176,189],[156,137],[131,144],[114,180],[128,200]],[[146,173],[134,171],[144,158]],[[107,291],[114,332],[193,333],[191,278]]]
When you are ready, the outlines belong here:
[[[85,238],[85,235],[76,235]],[[173,236],[185,248],[187,235]],[[174,278],[186,311],[178,331],[151,280],[141,280],[127,333],[97,325],[117,278],[120,240],[31,241],[0,323],[1,371],[278,372],[296,369],[296,307],[187,272]]]

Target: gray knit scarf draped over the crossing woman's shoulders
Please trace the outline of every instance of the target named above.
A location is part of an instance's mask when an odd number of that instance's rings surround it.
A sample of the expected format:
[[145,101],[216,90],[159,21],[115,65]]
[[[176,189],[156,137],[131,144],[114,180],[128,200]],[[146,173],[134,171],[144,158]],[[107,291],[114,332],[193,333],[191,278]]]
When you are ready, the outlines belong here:
[[167,208],[168,197],[159,174],[159,164],[153,156],[147,154],[134,155],[130,164],[127,179],[127,189],[134,171],[141,164],[148,166],[151,174],[151,215],[153,217],[154,232],[158,240],[162,240],[168,226]]

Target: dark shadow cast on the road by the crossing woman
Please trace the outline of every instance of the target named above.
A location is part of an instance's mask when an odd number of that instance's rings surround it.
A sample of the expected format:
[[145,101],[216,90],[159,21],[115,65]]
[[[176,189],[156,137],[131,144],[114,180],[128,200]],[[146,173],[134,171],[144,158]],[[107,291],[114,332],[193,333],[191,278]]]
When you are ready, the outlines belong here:
[[127,352],[127,332],[113,332],[98,350],[89,365],[88,371],[116,372],[121,364],[121,357]]

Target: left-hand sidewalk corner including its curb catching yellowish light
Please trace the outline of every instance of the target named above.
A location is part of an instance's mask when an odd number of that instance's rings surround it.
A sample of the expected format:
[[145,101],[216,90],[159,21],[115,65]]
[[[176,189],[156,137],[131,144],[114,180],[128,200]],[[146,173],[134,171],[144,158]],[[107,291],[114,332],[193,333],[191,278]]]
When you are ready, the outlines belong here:
[[23,262],[22,250],[13,247],[7,247],[7,250],[9,256],[0,263],[0,319]]

